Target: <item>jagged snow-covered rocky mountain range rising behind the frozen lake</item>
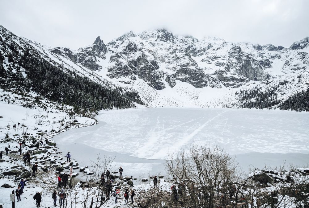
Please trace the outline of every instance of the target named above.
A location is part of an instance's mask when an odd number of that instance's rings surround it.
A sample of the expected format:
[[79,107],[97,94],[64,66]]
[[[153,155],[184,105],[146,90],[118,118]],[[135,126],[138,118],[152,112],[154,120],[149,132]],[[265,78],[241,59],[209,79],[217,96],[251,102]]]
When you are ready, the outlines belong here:
[[98,83],[137,91],[149,106],[260,108],[256,91],[271,90],[275,93],[269,99],[276,102],[267,108],[275,108],[308,89],[309,37],[285,48],[197,39],[159,29],[130,31],[107,44],[98,36],[78,50],[22,39]]

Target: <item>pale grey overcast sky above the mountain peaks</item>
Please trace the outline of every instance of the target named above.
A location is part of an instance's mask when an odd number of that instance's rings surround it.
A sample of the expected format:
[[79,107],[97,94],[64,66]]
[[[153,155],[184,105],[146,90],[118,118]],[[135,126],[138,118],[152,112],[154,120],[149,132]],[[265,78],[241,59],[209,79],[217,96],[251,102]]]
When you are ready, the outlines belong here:
[[309,36],[308,0],[7,0],[0,24],[52,47],[77,49],[132,30],[166,28],[176,35],[289,47]]

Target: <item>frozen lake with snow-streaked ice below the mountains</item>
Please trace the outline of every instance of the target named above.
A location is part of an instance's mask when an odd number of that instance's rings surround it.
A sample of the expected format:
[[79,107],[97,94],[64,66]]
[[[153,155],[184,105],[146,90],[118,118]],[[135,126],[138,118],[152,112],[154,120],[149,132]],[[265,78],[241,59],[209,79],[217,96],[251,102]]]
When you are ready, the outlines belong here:
[[219,144],[244,167],[309,161],[309,113],[227,108],[138,108],[101,111],[99,124],[54,137],[81,166],[100,153],[129,175],[163,173],[169,153]]

